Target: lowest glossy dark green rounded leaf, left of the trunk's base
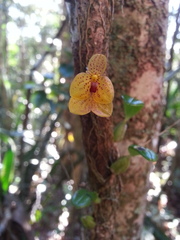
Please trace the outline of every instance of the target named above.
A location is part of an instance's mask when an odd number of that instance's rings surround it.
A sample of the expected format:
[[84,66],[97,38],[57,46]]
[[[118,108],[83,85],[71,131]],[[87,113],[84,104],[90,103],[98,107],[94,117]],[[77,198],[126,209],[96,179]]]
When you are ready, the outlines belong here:
[[86,189],[79,189],[72,196],[72,204],[76,208],[88,207],[90,204],[98,203],[99,197],[97,192],[91,192]]

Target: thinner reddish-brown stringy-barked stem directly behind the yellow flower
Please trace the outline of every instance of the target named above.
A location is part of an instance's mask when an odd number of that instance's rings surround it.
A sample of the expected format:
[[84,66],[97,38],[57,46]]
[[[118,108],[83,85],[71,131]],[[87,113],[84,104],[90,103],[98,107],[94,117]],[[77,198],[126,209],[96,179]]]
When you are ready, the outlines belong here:
[[[108,55],[108,40],[113,14],[113,1],[78,0],[70,5],[72,47],[75,74],[86,71],[95,53]],[[117,153],[112,137],[112,121],[93,113],[81,117],[83,142],[89,167],[90,189],[97,191],[102,201],[93,216],[96,228],[89,239],[113,239],[115,206],[120,193],[119,177],[112,176],[109,166]]]

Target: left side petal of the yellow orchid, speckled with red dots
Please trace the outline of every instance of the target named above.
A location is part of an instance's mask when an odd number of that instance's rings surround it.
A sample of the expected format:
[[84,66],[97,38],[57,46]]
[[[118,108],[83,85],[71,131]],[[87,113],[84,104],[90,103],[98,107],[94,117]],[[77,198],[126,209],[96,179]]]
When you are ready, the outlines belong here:
[[78,99],[90,97],[91,78],[88,73],[76,75],[70,86],[70,96]]

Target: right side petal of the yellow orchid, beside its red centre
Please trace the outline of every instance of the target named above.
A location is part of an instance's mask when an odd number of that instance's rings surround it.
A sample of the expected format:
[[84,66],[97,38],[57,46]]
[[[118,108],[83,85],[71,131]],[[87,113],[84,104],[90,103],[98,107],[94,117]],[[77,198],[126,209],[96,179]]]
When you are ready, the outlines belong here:
[[97,103],[111,103],[114,98],[114,87],[111,80],[108,77],[99,77],[97,80],[97,91],[92,96]]

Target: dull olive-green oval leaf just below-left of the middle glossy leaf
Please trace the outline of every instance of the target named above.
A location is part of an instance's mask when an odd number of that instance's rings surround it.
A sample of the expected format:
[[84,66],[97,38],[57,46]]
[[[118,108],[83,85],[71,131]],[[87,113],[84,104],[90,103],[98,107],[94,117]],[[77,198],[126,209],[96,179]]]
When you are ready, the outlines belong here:
[[120,174],[120,173],[124,173],[130,164],[130,157],[129,156],[123,156],[118,158],[117,161],[115,161],[110,169],[114,174]]

